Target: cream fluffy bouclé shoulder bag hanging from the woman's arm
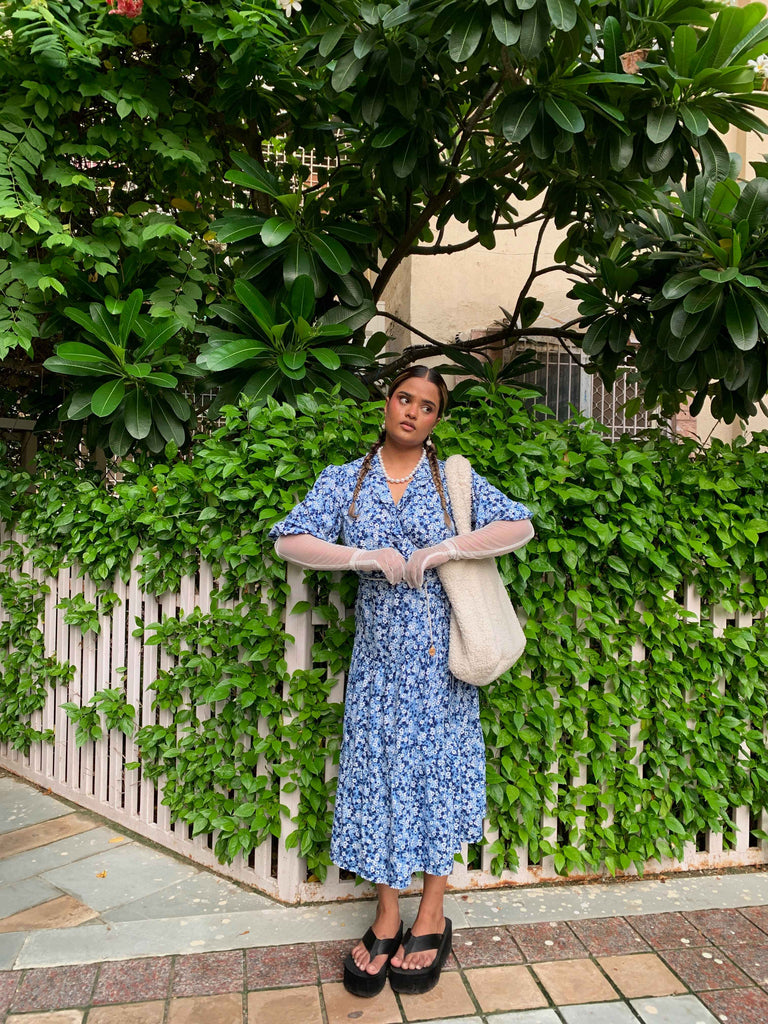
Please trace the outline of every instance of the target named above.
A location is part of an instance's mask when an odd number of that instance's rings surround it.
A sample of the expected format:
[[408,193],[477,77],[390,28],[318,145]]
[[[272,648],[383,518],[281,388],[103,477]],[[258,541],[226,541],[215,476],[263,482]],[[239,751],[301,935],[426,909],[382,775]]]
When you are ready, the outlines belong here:
[[[461,455],[445,461],[457,534],[472,529],[472,467]],[[459,559],[437,569],[451,601],[449,668],[457,679],[485,686],[510,669],[525,647],[525,634],[495,558]]]

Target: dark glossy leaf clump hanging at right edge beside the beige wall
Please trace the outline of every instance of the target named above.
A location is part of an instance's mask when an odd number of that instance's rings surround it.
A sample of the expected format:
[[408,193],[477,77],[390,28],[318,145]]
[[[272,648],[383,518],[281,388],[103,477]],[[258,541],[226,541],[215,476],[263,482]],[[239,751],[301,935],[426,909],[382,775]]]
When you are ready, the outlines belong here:
[[[686,392],[697,414],[746,419],[768,391],[768,180],[697,176],[659,209],[640,213],[599,260],[600,282],[572,295],[584,350],[612,382],[632,353],[644,400],[674,413]],[[635,342],[640,349],[633,352]]]

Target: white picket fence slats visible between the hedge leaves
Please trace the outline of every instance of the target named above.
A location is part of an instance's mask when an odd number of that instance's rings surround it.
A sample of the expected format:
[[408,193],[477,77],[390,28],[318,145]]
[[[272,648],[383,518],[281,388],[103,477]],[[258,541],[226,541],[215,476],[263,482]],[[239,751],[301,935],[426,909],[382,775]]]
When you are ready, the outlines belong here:
[[[0,531],[0,540],[3,534]],[[15,538],[23,541],[22,538]],[[7,568],[0,566],[0,571]],[[24,571],[43,581],[31,564]],[[321,901],[361,896],[367,887],[355,885],[349,878],[340,878],[339,870],[331,867],[325,883],[307,881],[306,865],[298,852],[287,849],[284,841],[274,840],[262,844],[250,858],[237,858],[231,864],[221,864],[213,854],[210,837],[189,838],[189,828],[179,822],[172,823],[167,807],[162,803],[162,791],[143,778],[140,768],[127,770],[126,764],[137,760],[135,743],[121,732],[113,730],[97,742],[87,742],[81,748],[75,744],[75,728],[61,711],[61,703],[75,701],[85,703],[96,690],[108,687],[123,687],[128,703],[136,709],[136,726],[155,723],[156,711],[152,709],[153,693],[148,687],[157,678],[159,670],[171,668],[173,658],[158,646],[145,646],[140,638],[132,635],[134,620],[142,623],[159,622],[165,616],[188,614],[196,607],[206,611],[210,607],[213,589],[211,569],[205,563],[195,577],[181,581],[177,594],[165,594],[161,598],[142,593],[137,584],[138,574],[132,573],[126,586],[115,584],[120,603],[111,614],[101,614],[101,628],[97,635],[89,632],[85,636],[77,628],[63,621],[65,612],[56,605],[65,598],[82,594],[87,601],[98,606],[95,586],[87,579],[79,577],[75,569],[62,569],[55,579],[45,579],[50,593],[45,599],[45,608],[40,628],[44,634],[45,653],[55,655],[75,666],[73,681],[66,686],[51,689],[44,710],[38,713],[33,725],[39,729],[52,729],[55,741],[37,743],[24,756],[0,744],[0,767],[6,768],[73,803],[94,811],[116,824],[139,836],[145,837],[169,850],[188,857],[220,874],[254,886],[257,889],[287,902]],[[309,601],[311,594],[303,581],[303,573],[289,567],[291,596],[287,606],[292,608],[297,602]],[[700,609],[692,588],[687,591],[687,606],[694,613]],[[722,629],[725,614],[715,610],[715,622]],[[6,617],[0,606],[0,621]],[[311,646],[313,627],[318,622],[316,613],[305,611],[288,613],[286,633],[294,637],[287,645],[286,658],[289,671],[311,668]],[[749,625],[749,621],[737,621],[736,625]],[[642,659],[643,648],[636,644],[634,656]],[[1,665],[0,665],[1,668]],[[119,671],[123,670],[125,671]],[[343,699],[344,679],[334,683],[331,699]],[[161,724],[170,724],[170,713],[161,711]],[[639,726],[631,733],[637,757]],[[556,766],[555,766],[556,767]],[[333,771],[329,767],[329,771]],[[575,784],[587,782],[587,770],[572,780]],[[289,817],[295,814],[298,804],[297,793],[282,793],[281,803],[288,809]],[[549,809],[545,824],[556,827],[555,808]],[[723,837],[708,834],[698,844],[687,844],[681,861],[650,862],[648,873],[674,870],[695,870],[701,868],[738,867],[768,862],[768,844],[752,838],[752,830],[759,827],[768,831],[768,814],[762,812],[758,821],[751,820],[750,809],[734,807],[732,818],[736,828],[736,842],[731,849],[723,849]],[[284,834],[293,830],[289,820],[284,821]],[[496,839],[486,827],[488,843]],[[463,852],[464,863],[457,862],[451,878],[454,889],[492,888],[504,885],[529,885],[546,881],[562,881],[556,874],[551,857],[545,857],[539,864],[530,864],[527,851],[518,850],[519,867],[515,872],[504,871],[499,877],[490,871],[488,847],[480,848],[480,866],[466,866],[467,850]],[[573,878],[573,876],[571,876]],[[579,878],[584,878],[580,876]]]

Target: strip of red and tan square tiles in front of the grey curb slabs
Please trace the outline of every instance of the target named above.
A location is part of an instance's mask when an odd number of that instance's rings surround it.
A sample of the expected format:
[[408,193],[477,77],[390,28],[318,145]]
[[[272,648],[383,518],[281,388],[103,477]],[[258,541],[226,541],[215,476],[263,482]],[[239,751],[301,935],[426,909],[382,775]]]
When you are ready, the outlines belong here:
[[355,999],[348,942],[0,972],[5,1024],[768,1024],[768,907],[476,928],[440,983]]

